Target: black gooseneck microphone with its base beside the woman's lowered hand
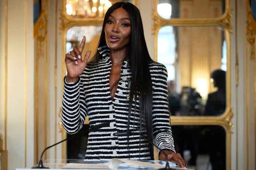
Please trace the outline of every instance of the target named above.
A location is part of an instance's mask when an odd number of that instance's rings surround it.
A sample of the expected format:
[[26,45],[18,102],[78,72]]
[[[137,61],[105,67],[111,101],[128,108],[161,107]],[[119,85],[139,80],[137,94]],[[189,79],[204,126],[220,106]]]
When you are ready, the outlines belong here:
[[131,132],[131,131],[122,131],[122,132],[116,132],[113,133],[114,136],[132,136],[132,135],[140,135],[141,137],[143,137],[146,141],[148,141],[150,144],[154,145],[157,149],[159,149],[161,152],[164,153],[164,156],[166,158],[166,164],[165,164],[165,168],[160,168],[160,170],[165,170],[165,169],[173,169],[170,168],[169,163],[168,163],[168,157],[166,155],[166,153],[160,149],[158,146],[156,146],[153,142],[149,141],[145,136],[143,136],[141,133],[139,132]]

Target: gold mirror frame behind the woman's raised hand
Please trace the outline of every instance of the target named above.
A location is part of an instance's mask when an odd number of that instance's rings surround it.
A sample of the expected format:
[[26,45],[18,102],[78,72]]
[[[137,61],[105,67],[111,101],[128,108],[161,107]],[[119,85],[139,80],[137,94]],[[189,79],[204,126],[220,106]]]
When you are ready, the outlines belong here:
[[[133,0],[133,4],[137,6],[137,0]],[[62,78],[66,76],[66,64],[65,64],[65,54],[66,54],[66,33],[69,28],[73,26],[100,26],[103,23],[104,18],[73,18],[68,16],[66,12],[66,0],[62,0],[62,10],[60,11],[59,18],[61,20],[61,23],[59,25],[60,32],[61,32],[61,39],[62,39],[62,61],[61,61],[61,72],[62,72]],[[62,89],[63,89],[62,84]],[[61,116],[61,108],[58,113],[59,117]],[[86,120],[84,124],[89,124],[88,117],[86,117]],[[59,129],[61,132],[61,138],[65,139],[67,138],[67,133],[64,130],[62,126],[62,122],[59,122]],[[62,143],[62,159],[66,159],[67,155],[67,143]]]

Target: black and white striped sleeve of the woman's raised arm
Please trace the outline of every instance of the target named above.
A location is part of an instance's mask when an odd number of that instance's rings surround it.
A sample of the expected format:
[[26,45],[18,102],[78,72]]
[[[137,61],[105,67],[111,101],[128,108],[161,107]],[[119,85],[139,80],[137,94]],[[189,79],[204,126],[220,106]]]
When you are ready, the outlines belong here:
[[61,122],[69,134],[78,132],[84,125],[87,114],[85,93],[80,78],[69,84],[64,78],[64,91],[61,110]]

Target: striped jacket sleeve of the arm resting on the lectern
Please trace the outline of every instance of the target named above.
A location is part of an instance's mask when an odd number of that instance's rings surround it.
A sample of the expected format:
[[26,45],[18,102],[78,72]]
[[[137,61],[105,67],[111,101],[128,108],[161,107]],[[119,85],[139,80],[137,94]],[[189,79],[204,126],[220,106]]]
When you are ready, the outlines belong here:
[[[170,114],[168,109],[167,71],[158,63],[151,71],[153,86],[153,135],[155,144],[162,150],[175,152]],[[160,150],[157,150],[159,153]]]

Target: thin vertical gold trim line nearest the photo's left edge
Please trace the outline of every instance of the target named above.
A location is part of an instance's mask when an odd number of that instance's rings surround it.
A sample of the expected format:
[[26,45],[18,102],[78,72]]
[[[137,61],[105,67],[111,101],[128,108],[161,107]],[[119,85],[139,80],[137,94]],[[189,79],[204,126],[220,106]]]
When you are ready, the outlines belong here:
[[4,150],[7,149],[7,43],[8,43],[8,0],[4,1]]

